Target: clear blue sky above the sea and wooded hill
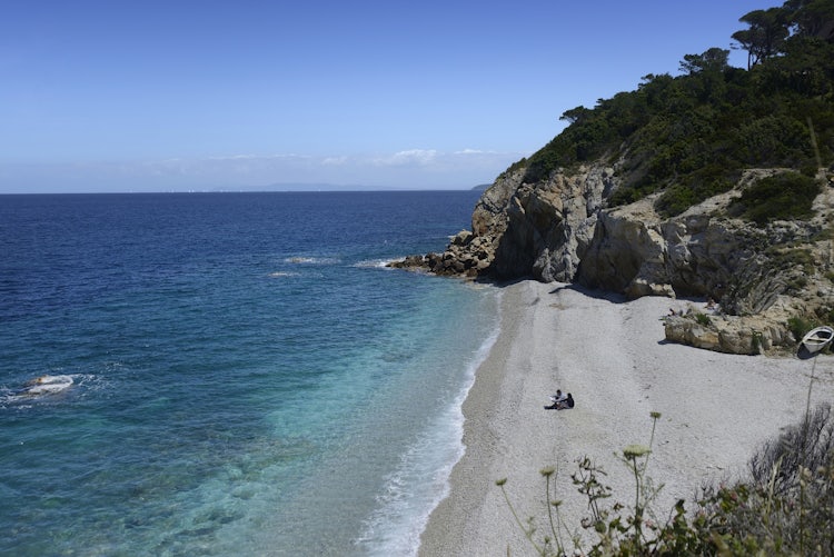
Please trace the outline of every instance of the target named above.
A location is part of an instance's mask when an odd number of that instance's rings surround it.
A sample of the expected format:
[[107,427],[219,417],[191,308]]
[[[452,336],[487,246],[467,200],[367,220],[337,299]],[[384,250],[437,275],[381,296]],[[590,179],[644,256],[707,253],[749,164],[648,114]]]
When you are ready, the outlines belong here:
[[8,2],[0,192],[469,188],[782,3]]

